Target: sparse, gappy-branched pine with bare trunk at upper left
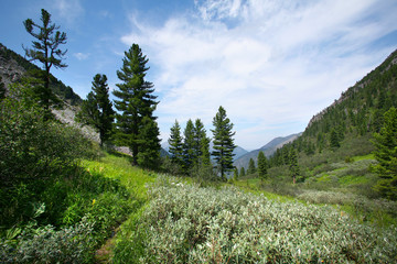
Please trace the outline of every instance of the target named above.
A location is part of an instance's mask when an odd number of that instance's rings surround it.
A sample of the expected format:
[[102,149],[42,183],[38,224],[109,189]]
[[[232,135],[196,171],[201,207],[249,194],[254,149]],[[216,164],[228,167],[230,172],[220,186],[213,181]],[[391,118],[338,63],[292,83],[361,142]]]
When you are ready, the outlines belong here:
[[[50,107],[55,102],[58,102],[56,96],[50,88],[50,70],[51,67],[65,68],[66,64],[62,63],[66,51],[62,51],[58,46],[66,44],[66,33],[57,31],[60,26],[56,26],[51,21],[51,14],[42,9],[41,10],[41,23],[36,24],[31,19],[26,19],[23,24],[29,34],[31,34],[36,41],[33,41],[33,48],[23,47],[26,57],[31,61],[39,61],[43,64],[44,75],[42,76],[44,86],[35,87],[35,92],[40,98],[40,105],[46,111],[46,117],[51,114]],[[34,31],[37,30],[37,32]]]

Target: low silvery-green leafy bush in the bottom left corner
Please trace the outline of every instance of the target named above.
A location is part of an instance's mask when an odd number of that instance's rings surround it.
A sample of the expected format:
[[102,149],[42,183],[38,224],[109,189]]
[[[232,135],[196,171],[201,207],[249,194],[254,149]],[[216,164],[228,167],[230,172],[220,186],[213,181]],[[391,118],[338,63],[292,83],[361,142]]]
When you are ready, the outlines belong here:
[[94,222],[83,219],[58,231],[52,226],[20,230],[17,238],[0,240],[1,263],[89,263],[96,243]]

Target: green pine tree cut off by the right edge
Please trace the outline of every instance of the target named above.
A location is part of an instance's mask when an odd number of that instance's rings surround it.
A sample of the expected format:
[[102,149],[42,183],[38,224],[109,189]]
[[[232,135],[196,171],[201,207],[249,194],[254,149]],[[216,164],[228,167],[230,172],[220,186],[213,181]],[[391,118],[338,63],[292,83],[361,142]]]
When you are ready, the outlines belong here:
[[397,110],[390,108],[384,114],[384,125],[374,134],[375,158],[373,170],[379,176],[375,186],[383,196],[397,200]]

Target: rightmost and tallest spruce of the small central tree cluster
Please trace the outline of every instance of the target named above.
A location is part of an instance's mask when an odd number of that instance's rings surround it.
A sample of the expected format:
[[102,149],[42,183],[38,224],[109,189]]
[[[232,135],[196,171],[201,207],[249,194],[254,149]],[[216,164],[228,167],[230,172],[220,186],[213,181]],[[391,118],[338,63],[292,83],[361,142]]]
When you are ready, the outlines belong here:
[[218,112],[213,119],[214,130],[212,130],[214,138],[214,151],[212,155],[217,164],[217,168],[221,173],[221,178],[225,180],[225,173],[233,170],[233,153],[236,145],[234,144],[233,136],[236,132],[232,132],[233,123],[226,116],[226,111],[223,107],[219,107]]

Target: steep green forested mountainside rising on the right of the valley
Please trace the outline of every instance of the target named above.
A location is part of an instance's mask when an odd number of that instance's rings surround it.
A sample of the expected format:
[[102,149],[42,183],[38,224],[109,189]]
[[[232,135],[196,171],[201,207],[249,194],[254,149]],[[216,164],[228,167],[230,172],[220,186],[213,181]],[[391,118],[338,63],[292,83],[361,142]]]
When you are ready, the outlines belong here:
[[380,130],[383,116],[391,107],[397,107],[397,51],[313,116],[303,134],[279,148],[271,164],[287,164],[291,147],[305,165],[313,166],[314,161],[324,160],[324,152],[334,153],[328,154],[326,162],[369,154],[374,150],[372,135]]

